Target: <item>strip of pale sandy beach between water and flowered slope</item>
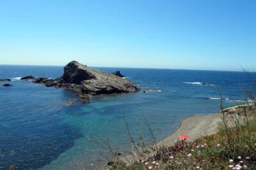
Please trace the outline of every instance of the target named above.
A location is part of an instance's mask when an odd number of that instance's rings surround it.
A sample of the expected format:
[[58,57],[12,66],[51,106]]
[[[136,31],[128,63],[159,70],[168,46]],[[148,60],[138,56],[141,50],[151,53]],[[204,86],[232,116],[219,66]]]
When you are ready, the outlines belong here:
[[221,114],[214,113],[209,115],[194,115],[182,120],[177,130],[167,138],[163,139],[157,146],[174,145],[179,139],[180,134],[189,136],[188,141],[195,141],[201,136],[213,134],[216,132],[219,124],[222,123]]

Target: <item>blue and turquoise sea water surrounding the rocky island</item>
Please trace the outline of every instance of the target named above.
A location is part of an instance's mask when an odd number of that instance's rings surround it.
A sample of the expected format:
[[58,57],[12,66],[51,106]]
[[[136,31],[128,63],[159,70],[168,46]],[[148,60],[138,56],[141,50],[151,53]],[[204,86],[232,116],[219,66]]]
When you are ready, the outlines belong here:
[[[76,94],[68,90],[19,80],[22,76],[57,78],[60,66],[0,66],[0,79],[11,78],[13,87],[0,87],[0,169],[81,169],[86,162],[95,169],[108,160],[106,143],[130,150],[125,118],[137,142],[145,123],[157,140],[172,134],[190,115],[216,113],[219,87],[225,105],[243,102],[243,72],[177,69],[130,69],[97,67],[109,73],[120,70],[143,89],[116,96],[100,96],[92,103],[68,106]],[[255,74],[254,74],[255,75]],[[203,86],[210,83],[211,86]]]

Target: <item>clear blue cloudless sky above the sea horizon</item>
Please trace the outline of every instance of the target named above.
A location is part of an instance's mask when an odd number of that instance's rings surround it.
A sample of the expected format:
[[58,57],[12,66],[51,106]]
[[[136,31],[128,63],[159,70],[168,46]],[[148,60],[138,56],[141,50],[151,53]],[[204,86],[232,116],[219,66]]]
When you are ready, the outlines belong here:
[[255,69],[255,9],[255,0],[1,0],[0,64]]

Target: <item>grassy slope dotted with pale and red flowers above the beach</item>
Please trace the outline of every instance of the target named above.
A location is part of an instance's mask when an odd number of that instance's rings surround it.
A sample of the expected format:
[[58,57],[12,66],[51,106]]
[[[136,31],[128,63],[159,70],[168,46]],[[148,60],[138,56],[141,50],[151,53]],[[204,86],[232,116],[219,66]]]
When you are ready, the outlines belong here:
[[190,143],[177,141],[174,146],[156,148],[153,155],[140,157],[130,165],[118,161],[108,169],[256,169],[254,113],[254,109],[236,115],[224,113],[227,127],[219,127],[216,134]]

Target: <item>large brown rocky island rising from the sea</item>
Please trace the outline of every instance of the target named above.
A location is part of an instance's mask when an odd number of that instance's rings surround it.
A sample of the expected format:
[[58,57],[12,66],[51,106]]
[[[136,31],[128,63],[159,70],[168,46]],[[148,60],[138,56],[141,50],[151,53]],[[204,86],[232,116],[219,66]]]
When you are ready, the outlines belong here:
[[47,87],[54,86],[72,90],[79,94],[81,103],[88,103],[93,96],[100,94],[125,94],[139,91],[132,81],[105,71],[92,69],[77,61],[69,62],[64,67],[63,76],[60,78],[26,76],[20,80],[29,80]]

